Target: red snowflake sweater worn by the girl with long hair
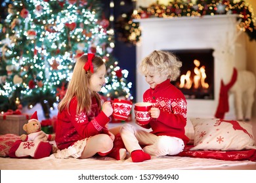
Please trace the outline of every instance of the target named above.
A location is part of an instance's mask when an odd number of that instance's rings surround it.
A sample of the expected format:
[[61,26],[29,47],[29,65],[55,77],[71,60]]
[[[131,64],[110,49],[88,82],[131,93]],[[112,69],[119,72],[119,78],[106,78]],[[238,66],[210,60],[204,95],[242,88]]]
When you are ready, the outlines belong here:
[[56,145],[60,150],[68,148],[76,141],[100,134],[108,134],[108,129],[105,125],[109,122],[108,116],[104,112],[98,110],[95,97],[92,98],[91,112],[83,111],[76,114],[77,99],[73,97],[70,102],[70,114],[68,110],[63,110],[58,113],[56,122]]

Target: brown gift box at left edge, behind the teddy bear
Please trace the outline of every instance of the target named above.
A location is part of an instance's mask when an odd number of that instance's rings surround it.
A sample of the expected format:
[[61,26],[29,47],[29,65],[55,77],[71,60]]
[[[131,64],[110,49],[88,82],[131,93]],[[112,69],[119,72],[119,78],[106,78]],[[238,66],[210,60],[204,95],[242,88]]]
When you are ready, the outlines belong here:
[[16,135],[26,134],[23,125],[30,120],[30,114],[0,114],[0,135],[12,133]]

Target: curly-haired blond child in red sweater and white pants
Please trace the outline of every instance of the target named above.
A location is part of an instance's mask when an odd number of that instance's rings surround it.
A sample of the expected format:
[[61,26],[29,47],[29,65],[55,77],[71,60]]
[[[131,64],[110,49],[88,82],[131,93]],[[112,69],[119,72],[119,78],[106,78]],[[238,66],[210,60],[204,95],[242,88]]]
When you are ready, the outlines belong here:
[[189,140],[184,135],[186,99],[170,83],[179,76],[180,67],[181,61],[173,54],[156,50],[139,65],[140,72],[150,85],[150,89],[144,92],[143,101],[152,103],[149,111],[152,119],[142,127],[152,128],[152,131],[137,129],[130,124],[121,127],[121,138],[133,162],[148,160],[150,155],[179,154]]

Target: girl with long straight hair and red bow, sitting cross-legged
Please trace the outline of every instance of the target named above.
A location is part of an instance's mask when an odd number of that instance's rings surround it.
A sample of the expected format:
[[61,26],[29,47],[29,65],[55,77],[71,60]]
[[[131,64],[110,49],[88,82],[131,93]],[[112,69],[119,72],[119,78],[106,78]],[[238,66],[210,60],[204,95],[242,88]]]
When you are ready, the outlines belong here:
[[[115,137],[105,125],[113,108],[110,101],[102,105],[97,93],[105,82],[105,73],[104,61],[95,54],[77,59],[66,95],[58,105],[55,141],[59,150],[54,154],[56,158],[110,154]],[[122,152],[124,156],[124,150]],[[120,159],[119,154],[116,152],[113,158]]]

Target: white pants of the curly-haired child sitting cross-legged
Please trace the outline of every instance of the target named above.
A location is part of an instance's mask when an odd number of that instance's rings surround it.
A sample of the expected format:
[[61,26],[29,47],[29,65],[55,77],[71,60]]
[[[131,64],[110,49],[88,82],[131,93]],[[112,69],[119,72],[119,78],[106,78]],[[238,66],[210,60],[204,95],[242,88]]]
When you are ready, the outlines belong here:
[[152,156],[175,155],[184,150],[182,139],[165,135],[157,136],[131,124],[123,125],[120,135],[130,153],[134,150],[142,150],[141,146],[144,146],[144,152]]

